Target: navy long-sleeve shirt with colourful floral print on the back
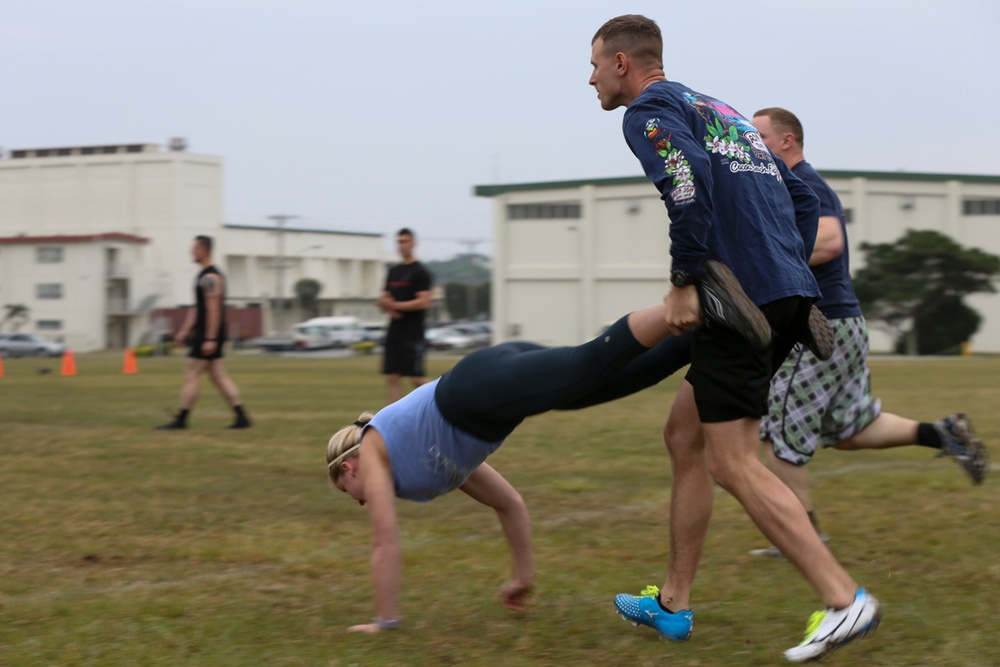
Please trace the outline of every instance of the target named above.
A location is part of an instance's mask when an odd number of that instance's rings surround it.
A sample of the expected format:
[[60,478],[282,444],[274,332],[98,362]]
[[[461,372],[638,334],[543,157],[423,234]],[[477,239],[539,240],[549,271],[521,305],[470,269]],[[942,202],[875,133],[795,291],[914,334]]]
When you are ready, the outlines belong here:
[[673,81],[649,85],[622,121],[625,141],[670,216],[673,269],[729,266],[758,305],[818,297],[808,266],[819,200],[732,107]]

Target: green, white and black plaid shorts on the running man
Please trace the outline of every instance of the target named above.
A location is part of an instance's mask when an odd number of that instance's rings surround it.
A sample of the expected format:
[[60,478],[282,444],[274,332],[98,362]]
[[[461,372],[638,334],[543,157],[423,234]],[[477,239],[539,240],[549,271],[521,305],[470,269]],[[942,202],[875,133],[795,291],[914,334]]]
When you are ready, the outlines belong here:
[[818,448],[863,431],[882,411],[882,402],[871,394],[865,318],[830,323],[835,346],[828,361],[796,345],[771,379],[760,438],[793,465],[805,465]]

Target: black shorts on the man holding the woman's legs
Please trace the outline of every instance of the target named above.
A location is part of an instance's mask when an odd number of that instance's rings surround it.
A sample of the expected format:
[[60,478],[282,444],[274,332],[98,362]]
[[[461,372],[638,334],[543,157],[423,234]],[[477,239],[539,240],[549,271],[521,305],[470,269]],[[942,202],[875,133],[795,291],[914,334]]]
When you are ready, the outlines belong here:
[[774,331],[771,347],[758,352],[743,336],[722,327],[698,327],[685,379],[694,387],[702,423],[767,414],[771,377],[809,322],[812,298],[788,297],[761,306]]

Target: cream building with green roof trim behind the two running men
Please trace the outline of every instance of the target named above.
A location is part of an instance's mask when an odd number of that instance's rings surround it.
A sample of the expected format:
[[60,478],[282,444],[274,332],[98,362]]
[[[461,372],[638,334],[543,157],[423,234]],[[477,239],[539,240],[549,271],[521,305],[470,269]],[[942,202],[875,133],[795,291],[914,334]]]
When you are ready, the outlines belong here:
[[[1000,254],[1000,176],[821,171],[848,219],[852,269],[863,242],[936,230]],[[669,220],[645,177],[483,185],[494,200],[496,339],[573,345],[668,290]],[[983,316],[972,348],[1000,352],[1000,295],[973,295]],[[892,340],[872,327],[874,351]]]

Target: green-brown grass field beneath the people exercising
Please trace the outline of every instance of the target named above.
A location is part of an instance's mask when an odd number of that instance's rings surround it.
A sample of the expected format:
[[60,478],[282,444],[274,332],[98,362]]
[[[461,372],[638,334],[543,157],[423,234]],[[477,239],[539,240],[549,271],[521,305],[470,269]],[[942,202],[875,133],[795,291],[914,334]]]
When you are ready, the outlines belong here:
[[[403,630],[373,614],[367,515],[325,481],[329,435],[384,398],[378,357],[228,359],[253,429],[205,380],[186,432],[160,432],[181,357],[8,359],[0,378],[0,665],[772,665],[818,607],[742,509],[717,495],[695,631],[660,642],[612,611],[661,583],[670,472],[660,439],[678,385],[528,420],[490,459],[532,511],[529,613],[496,602],[508,572],[494,516],[460,493],[401,502]],[[433,375],[454,358],[433,359]],[[39,373],[49,368],[48,374]],[[963,409],[1000,451],[1000,358],[872,363],[884,408]],[[883,601],[843,665],[1000,664],[1000,475],[972,487],[910,447],[821,453],[814,502],[851,574]]]

